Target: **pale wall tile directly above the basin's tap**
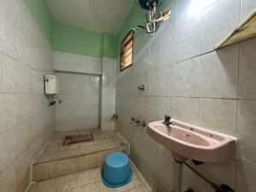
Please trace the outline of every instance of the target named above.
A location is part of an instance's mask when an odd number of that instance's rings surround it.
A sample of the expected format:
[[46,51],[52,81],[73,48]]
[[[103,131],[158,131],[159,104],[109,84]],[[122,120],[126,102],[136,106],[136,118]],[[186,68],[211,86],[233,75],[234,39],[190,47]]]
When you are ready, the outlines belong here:
[[174,115],[174,97],[160,96],[160,119],[164,119],[165,115]]

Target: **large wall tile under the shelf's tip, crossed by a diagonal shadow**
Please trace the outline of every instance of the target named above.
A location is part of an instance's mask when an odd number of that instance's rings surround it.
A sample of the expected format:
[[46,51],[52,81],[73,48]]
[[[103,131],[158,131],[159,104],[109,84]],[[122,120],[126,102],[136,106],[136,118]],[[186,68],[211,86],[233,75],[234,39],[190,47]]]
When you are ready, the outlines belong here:
[[238,46],[201,56],[201,97],[237,98]]

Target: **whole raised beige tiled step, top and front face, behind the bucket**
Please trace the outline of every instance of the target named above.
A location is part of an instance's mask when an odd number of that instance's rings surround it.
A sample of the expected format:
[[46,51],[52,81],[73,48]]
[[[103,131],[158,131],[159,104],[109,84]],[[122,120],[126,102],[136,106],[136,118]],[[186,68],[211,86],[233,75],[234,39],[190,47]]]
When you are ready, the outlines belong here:
[[81,132],[56,133],[32,166],[32,181],[60,177],[102,166],[109,153],[129,154],[129,143],[116,132],[93,131],[94,142],[63,146],[66,135]]

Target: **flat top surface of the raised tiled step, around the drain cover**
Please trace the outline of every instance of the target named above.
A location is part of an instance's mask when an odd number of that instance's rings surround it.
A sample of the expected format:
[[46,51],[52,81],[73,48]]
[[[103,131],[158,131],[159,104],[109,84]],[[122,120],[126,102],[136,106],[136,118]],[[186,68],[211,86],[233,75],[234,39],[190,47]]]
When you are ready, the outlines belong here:
[[128,143],[114,131],[101,131],[99,129],[91,130],[94,142],[76,143],[63,146],[67,135],[79,135],[89,133],[90,131],[65,131],[56,132],[55,136],[49,142],[48,146],[38,157],[37,163],[44,163],[52,160],[63,160],[84,154],[93,154],[99,151],[111,148],[119,148]]

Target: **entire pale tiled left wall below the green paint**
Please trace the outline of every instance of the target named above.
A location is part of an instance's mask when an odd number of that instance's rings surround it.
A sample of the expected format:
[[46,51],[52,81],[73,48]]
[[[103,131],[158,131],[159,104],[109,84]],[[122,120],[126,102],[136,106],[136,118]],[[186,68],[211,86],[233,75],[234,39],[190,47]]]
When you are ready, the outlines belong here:
[[20,192],[28,184],[29,164],[54,131],[43,81],[53,73],[53,53],[20,0],[0,2],[0,41],[0,191]]

